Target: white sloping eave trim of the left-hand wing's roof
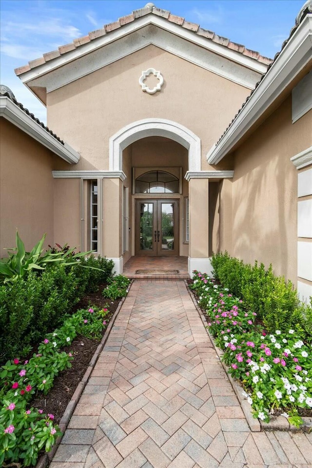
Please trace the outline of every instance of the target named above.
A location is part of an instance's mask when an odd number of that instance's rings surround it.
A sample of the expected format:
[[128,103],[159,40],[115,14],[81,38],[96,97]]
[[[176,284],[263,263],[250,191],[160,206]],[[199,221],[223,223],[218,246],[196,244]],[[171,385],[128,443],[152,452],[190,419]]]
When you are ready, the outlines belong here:
[[0,117],[6,118],[24,133],[37,140],[45,148],[52,151],[70,164],[77,164],[80,155],[67,143],[64,145],[45,130],[32,117],[28,116],[19,106],[6,96],[0,97]]

